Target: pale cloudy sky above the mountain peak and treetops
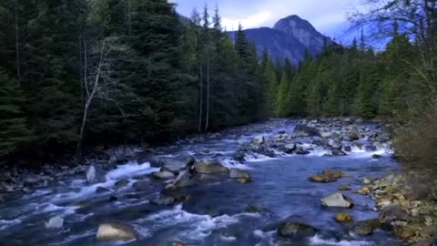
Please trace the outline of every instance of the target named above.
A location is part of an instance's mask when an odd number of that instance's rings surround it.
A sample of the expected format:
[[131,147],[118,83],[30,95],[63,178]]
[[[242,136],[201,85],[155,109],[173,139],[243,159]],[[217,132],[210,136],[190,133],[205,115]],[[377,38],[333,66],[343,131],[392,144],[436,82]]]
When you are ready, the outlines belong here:
[[194,7],[202,10],[219,5],[223,25],[228,30],[273,26],[280,18],[300,15],[315,26],[320,33],[341,39],[347,28],[346,13],[362,8],[362,0],[171,0],[177,4],[179,14],[189,16]]

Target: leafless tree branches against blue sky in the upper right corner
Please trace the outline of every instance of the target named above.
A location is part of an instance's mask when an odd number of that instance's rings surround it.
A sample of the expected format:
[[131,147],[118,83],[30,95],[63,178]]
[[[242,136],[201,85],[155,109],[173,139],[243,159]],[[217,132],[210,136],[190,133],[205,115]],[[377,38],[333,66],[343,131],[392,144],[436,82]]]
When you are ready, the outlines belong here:
[[365,28],[374,38],[394,36],[398,31],[412,38],[421,55],[421,64],[405,62],[417,73],[419,87],[437,92],[436,44],[437,1],[435,0],[366,0],[367,11],[349,15],[351,29]]

